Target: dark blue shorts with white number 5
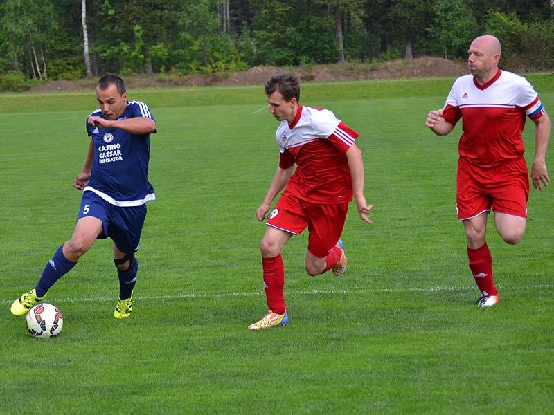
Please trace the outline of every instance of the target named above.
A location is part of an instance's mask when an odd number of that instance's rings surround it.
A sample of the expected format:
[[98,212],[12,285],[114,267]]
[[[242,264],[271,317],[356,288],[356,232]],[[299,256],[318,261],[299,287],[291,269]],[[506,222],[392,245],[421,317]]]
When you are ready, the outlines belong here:
[[88,216],[102,221],[103,232],[98,235],[98,239],[111,238],[118,250],[125,254],[132,254],[139,249],[146,205],[120,208],[94,192],[84,192],[77,220]]

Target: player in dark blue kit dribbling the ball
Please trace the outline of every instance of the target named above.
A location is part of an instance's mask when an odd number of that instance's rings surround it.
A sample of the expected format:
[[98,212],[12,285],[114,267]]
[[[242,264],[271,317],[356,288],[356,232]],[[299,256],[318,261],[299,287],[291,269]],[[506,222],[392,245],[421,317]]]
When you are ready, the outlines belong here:
[[73,184],[83,191],[73,236],[48,261],[35,288],[13,302],[13,315],[24,315],[41,302],[96,239],[107,237],[114,241],[120,287],[114,317],[131,315],[139,268],[134,255],[146,216],[145,203],[156,199],[148,181],[150,133],[156,132],[156,121],[148,105],[127,100],[125,82],[118,75],[98,80],[96,99],[100,108],[86,122],[91,136],[87,159]]

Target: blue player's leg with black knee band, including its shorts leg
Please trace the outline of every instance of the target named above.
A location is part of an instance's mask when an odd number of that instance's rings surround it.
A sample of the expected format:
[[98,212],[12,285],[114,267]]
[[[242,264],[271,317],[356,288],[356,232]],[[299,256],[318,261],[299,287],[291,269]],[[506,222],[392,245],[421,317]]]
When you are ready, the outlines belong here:
[[114,317],[130,317],[133,310],[133,290],[139,271],[139,250],[141,233],[146,217],[146,205],[120,208],[109,207],[109,237],[114,241],[114,264],[119,280],[119,297]]

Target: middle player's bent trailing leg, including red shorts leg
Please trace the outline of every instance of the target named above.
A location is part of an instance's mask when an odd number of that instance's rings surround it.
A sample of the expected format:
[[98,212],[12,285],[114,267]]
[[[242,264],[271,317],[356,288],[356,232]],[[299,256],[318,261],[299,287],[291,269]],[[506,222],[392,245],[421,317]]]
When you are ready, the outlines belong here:
[[309,275],[319,275],[328,270],[336,276],[346,270],[346,256],[341,239],[348,203],[319,205],[307,203],[310,221],[305,269]]

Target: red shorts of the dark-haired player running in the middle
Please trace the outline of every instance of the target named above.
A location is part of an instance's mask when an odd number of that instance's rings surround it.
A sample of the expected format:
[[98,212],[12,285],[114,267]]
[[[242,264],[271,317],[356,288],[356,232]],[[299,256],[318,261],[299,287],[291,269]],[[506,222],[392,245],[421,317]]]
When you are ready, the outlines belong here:
[[341,237],[347,212],[348,203],[312,203],[285,192],[269,214],[267,225],[295,235],[301,234],[307,226],[308,252],[324,258]]

